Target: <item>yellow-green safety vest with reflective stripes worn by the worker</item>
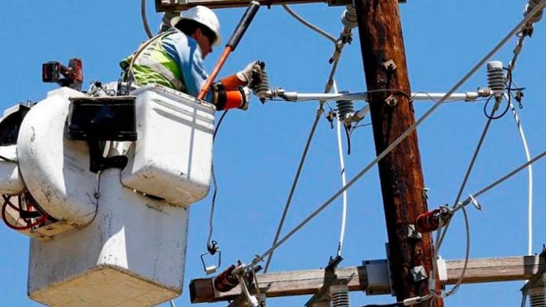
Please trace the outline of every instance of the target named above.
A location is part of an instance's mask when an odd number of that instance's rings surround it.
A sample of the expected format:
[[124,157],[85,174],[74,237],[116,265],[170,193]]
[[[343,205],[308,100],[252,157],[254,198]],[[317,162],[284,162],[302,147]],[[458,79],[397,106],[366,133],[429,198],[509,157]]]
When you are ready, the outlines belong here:
[[172,33],[175,31],[167,31],[150,38],[135,53],[121,61],[125,81],[134,81],[140,86],[161,84],[181,92],[186,90],[182,71],[164,52],[162,46],[163,38]]

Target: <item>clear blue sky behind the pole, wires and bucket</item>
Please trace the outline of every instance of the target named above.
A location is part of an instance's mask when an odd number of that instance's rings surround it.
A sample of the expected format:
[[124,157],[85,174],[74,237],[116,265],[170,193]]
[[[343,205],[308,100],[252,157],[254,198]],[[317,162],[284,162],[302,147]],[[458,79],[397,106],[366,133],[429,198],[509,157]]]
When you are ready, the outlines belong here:
[[[149,24],[155,31],[159,14],[149,0]],[[520,20],[523,0],[408,1],[401,5],[404,42],[411,89],[446,92]],[[293,6],[305,18],[336,36],[342,29],[342,8],[326,4]],[[218,11],[224,41],[229,38],[242,9]],[[543,125],[546,105],[542,90],[546,70],[546,21],[537,24],[513,73],[525,87],[520,117],[532,155],[546,148]],[[140,18],[140,1],[3,1],[0,10],[0,41],[3,73],[0,74],[0,108],[45,98],[56,88],[41,82],[41,63],[83,58],[85,85],[119,76],[118,62],[146,39]],[[512,57],[513,38],[494,59],[505,66]],[[303,27],[280,7],[261,8],[251,28],[231,55],[222,76],[234,73],[251,60],[266,61],[272,85],[287,90],[319,93],[330,73],[328,58],[333,46],[322,36]],[[221,53],[218,48],[206,59],[209,70]],[[365,91],[359,37],[342,54],[336,75],[340,90]],[[485,86],[485,68],[458,90]],[[420,116],[432,103],[415,103]],[[333,105],[332,105],[333,106]],[[363,103],[357,106],[362,107]],[[295,169],[315,116],[317,103],[271,102],[261,105],[254,98],[251,108],[230,112],[221,125],[214,147],[219,194],[214,219],[214,239],[219,242],[223,264],[251,261],[271,246]],[[485,124],[483,102],[441,106],[419,128],[419,145],[429,207],[451,204]],[[364,119],[368,123],[369,118]],[[343,139],[346,145],[345,138]],[[351,178],[374,157],[371,128],[352,135],[352,153],[345,157]],[[495,120],[485,139],[464,195],[485,185],[524,162],[525,156],[510,113]],[[533,251],[545,242],[546,163],[535,165],[535,226]],[[335,130],[320,121],[310,147],[285,229],[291,229],[340,188]],[[341,266],[358,266],[368,259],[384,259],[387,231],[384,225],[377,168],[349,190],[347,233]],[[469,209],[471,257],[518,256],[527,253],[527,174],[479,199],[484,211]],[[175,302],[189,306],[187,286],[204,276],[199,255],[205,251],[211,197],[192,205],[184,293]],[[335,202],[302,231],[276,251],[271,271],[317,269],[334,256],[340,233],[341,202]],[[40,306],[26,296],[28,239],[0,226],[0,306]],[[441,256],[462,259],[465,252],[462,216],[449,230]],[[446,306],[517,306],[523,282],[463,285],[446,299]],[[449,287],[448,287],[449,288]],[[270,299],[270,306],[303,306],[309,297]],[[394,302],[389,296],[351,294],[352,305]],[[167,306],[165,304],[164,306]],[[226,303],[214,306],[226,306]]]

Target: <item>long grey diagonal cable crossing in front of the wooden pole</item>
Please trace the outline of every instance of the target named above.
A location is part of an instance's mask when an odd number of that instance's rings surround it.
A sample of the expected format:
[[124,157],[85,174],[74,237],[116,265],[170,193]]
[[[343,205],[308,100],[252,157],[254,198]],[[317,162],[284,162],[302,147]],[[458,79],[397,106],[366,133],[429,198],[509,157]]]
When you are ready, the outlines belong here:
[[[283,244],[286,240],[290,238],[290,236],[293,236],[295,232],[300,230],[303,226],[305,226],[305,224],[307,224],[311,219],[316,217],[317,214],[319,214],[323,209],[325,209],[329,204],[331,204],[337,197],[340,196],[340,194],[342,194],[342,192],[344,192],[349,187],[351,187],[352,184],[355,184],[355,182],[357,182],[357,180],[360,179],[362,175],[364,175],[372,167],[374,167],[374,165],[377,162],[379,162],[379,160],[382,160],[387,154],[389,154],[389,152],[391,152],[394,149],[394,147],[397,147],[397,145],[399,145],[399,143],[402,140],[404,140],[411,132],[413,132],[419,125],[421,125],[421,123],[424,120],[426,120],[426,118],[428,118],[432,113],[434,113],[434,111],[437,108],[439,108],[439,106],[444,101],[446,101],[446,99],[451,94],[455,93],[455,91],[458,90],[458,88],[460,88],[461,85],[463,85],[463,83],[465,83],[469,78],[471,78],[471,76],[473,76],[473,74],[476,73],[476,71],[478,71],[478,69],[480,69],[483,66],[483,64],[485,64],[485,62],[487,62],[500,48],[502,48],[505,45],[505,43],[508,42],[508,40],[510,40],[510,38],[512,38],[512,36],[514,36],[515,33],[518,32],[518,30],[521,28],[521,26],[523,26],[523,24],[529,21],[532,18],[532,16],[537,11],[542,9],[544,6],[546,6],[546,0],[540,1],[540,3],[537,4],[537,6],[535,6],[535,9],[532,9],[532,11],[529,14],[527,14],[527,16],[525,16],[516,26],[514,26],[514,28],[508,34],[506,34],[503,37],[503,39],[501,39],[500,42],[495,47],[493,47],[493,49],[491,49],[480,61],[478,61],[478,63],[476,63],[476,65],[473,66],[473,68],[471,68],[471,70],[468,71],[468,73],[466,73],[466,75],[463,76],[463,78],[461,78],[461,80],[459,80],[456,83],[456,85],[453,85],[453,88],[451,88],[451,90],[449,90],[448,93],[446,93],[446,95],[443,95],[442,98],[440,98],[436,103],[434,103],[434,105],[432,105],[431,108],[429,108],[429,110],[427,110],[426,113],[422,115],[421,118],[419,118],[419,120],[416,120],[416,122],[413,125],[411,125],[406,131],[404,131],[399,137],[397,137],[397,139],[394,140],[394,142],[392,142],[391,145],[385,148],[383,152],[381,152],[379,155],[377,155],[377,157],[375,157],[374,160],[372,160],[372,162],[369,162],[369,164],[366,167],[364,167],[357,175],[355,175],[355,177],[353,177],[349,182],[347,182],[347,184],[345,184],[344,187],[338,190],[334,195],[332,195],[332,197],[327,199],[326,202],[322,203],[320,207],[315,209],[315,211],[312,212],[302,222],[300,222],[300,224],[298,224],[296,227],[290,230],[288,234],[285,234],[285,236],[283,236],[282,239],[280,239],[277,243],[273,244],[273,246],[271,246],[267,251],[261,254],[261,256],[257,256],[256,257],[257,260],[256,259],[253,260],[252,265],[256,264],[256,261],[261,261],[261,259],[264,259],[266,256],[270,255],[278,246]],[[546,152],[544,152],[544,154],[546,155]]]

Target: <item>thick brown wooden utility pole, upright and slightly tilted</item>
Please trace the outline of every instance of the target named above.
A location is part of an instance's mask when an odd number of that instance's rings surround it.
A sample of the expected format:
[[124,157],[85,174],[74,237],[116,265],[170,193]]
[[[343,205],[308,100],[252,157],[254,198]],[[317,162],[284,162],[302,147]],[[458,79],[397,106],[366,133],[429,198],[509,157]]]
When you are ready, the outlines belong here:
[[[397,0],[356,0],[355,6],[379,155],[415,123],[399,4]],[[379,178],[389,236],[392,288],[398,301],[424,296],[429,293],[429,279],[414,273],[424,268],[426,276],[430,276],[432,239],[430,234],[419,237],[411,231],[416,217],[427,211],[416,131],[379,161]],[[426,301],[414,306],[429,304]],[[436,307],[440,306],[443,301],[436,300]]]

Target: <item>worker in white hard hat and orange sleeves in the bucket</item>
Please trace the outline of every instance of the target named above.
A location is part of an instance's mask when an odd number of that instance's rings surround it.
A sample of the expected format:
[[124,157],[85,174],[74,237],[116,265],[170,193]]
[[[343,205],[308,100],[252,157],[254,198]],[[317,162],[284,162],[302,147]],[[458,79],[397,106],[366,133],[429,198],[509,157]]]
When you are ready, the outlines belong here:
[[[123,78],[139,86],[160,84],[197,96],[209,77],[203,60],[221,41],[218,18],[206,6],[194,6],[174,17],[171,26],[120,63]],[[254,61],[214,84],[204,99],[216,110],[246,110],[251,89],[260,83],[261,66]]]

